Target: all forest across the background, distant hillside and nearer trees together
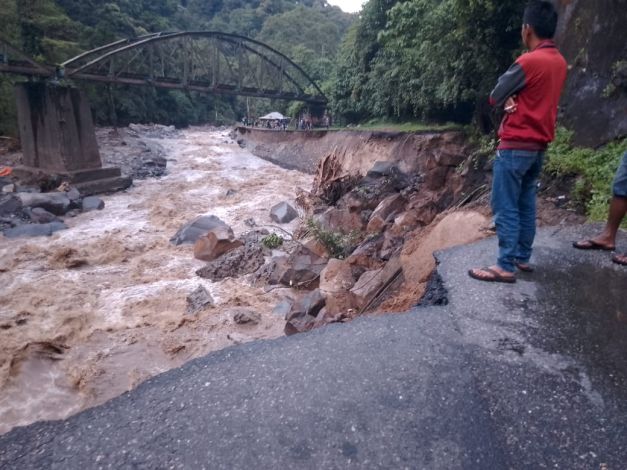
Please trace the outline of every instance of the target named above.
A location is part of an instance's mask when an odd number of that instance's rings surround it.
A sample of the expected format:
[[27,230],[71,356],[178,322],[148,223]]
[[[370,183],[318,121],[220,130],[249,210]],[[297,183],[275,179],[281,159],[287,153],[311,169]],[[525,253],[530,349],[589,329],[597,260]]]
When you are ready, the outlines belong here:
[[[370,0],[358,15],[325,0],[0,0],[2,35],[38,60],[155,31],[213,30],[261,40],[301,65],[336,122],[372,118],[470,122],[519,48],[522,0]],[[0,77],[0,133],[14,132]],[[99,124],[232,122],[242,99],[85,86]],[[298,103],[255,100],[256,114]]]

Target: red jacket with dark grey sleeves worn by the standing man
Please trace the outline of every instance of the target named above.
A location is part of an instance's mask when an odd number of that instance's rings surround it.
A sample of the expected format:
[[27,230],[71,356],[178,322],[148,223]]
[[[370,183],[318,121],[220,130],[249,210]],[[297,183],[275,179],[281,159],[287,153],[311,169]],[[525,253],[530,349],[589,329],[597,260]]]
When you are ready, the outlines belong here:
[[490,104],[503,106],[517,95],[518,107],[499,129],[499,149],[544,150],[555,138],[557,106],[566,81],[566,60],[553,41],[521,55],[499,78]]

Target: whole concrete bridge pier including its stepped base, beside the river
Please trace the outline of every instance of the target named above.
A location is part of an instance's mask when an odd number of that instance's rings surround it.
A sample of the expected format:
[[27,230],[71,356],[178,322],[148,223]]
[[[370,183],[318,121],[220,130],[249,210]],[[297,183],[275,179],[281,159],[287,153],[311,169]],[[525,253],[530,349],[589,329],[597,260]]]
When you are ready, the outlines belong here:
[[94,123],[78,89],[44,82],[15,86],[24,178],[58,175],[82,195],[126,189],[132,180],[119,168],[103,168]]

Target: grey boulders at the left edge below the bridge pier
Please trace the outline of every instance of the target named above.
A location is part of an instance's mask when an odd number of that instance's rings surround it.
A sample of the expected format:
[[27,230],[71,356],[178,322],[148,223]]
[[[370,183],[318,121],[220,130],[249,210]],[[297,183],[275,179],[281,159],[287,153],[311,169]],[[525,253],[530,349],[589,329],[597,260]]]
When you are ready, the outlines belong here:
[[104,208],[102,199],[81,197],[76,188],[65,186],[58,191],[40,192],[38,187],[4,183],[0,193],[0,231],[7,238],[49,236],[67,229],[61,216],[74,217]]

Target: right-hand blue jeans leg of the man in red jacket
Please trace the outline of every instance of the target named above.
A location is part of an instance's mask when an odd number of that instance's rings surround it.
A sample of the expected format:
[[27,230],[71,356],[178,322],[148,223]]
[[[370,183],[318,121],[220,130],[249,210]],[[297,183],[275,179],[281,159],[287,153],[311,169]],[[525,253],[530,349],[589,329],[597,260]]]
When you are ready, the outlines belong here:
[[542,171],[544,153],[538,152],[534,162],[522,179],[518,209],[520,213],[520,232],[516,248],[516,262],[527,266],[531,258],[533,240],[536,236],[536,194],[538,177]]

